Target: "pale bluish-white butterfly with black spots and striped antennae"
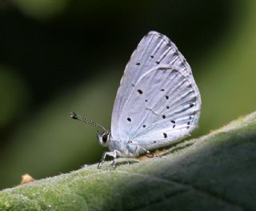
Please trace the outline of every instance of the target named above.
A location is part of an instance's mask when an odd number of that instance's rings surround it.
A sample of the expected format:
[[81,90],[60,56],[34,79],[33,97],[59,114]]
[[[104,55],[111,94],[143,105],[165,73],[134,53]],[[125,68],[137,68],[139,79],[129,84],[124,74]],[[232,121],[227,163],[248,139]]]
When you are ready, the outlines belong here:
[[165,35],[150,31],[130,57],[114,101],[111,130],[71,112],[71,117],[94,125],[106,156],[138,157],[181,141],[198,127],[201,97],[192,71],[178,48]]

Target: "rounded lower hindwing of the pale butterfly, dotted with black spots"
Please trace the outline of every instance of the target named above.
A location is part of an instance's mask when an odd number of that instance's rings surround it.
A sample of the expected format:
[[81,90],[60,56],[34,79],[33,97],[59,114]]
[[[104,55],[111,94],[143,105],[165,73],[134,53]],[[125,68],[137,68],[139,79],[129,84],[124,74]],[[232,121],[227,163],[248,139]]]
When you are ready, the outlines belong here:
[[146,149],[170,144],[197,127],[201,106],[198,87],[175,66],[157,66],[134,85],[120,115],[120,140]]

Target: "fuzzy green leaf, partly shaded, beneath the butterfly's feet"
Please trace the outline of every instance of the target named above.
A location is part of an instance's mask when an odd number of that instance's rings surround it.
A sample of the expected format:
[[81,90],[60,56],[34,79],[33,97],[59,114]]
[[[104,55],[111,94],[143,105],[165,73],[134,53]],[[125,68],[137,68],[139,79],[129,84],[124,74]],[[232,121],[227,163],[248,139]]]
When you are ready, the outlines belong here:
[[0,210],[256,209],[256,113],[167,151],[4,189]]

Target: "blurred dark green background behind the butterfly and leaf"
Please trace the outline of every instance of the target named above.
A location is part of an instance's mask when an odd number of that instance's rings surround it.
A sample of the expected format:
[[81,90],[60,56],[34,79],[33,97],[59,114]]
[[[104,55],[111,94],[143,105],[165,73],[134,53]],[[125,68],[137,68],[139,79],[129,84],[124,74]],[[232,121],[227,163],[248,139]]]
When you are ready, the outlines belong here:
[[166,34],[202,94],[195,136],[256,106],[256,3],[246,1],[0,2],[0,188],[96,162],[126,62],[149,30]]

